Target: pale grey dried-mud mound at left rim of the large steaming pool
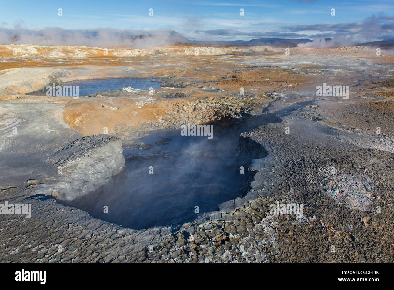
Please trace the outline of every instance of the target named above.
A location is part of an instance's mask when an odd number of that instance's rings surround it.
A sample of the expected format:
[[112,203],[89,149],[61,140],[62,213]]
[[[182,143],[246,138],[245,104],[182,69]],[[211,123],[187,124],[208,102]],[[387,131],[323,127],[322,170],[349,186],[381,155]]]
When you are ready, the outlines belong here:
[[73,200],[97,189],[125,166],[122,140],[110,135],[82,137],[55,153],[58,178],[41,184],[33,194]]

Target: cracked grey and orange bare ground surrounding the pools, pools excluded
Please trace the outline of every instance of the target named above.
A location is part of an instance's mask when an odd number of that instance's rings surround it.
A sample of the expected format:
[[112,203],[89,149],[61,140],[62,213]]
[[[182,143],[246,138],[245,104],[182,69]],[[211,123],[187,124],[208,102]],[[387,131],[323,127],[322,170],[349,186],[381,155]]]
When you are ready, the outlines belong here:
[[[30,203],[32,217],[0,215],[1,261],[393,262],[394,58],[312,52],[3,56],[0,203]],[[77,100],[24,95],[104,77],[153,77],[162,87]],[[316,97],[323,83],[349,85],[349,99]],[[237,155],[250,174],[244,196],[190,223],[144,230],[54,199],[119,172],[121,146],[187,122],[239,135]],[[303,216],[271,214],[278,201],[303,204]]]

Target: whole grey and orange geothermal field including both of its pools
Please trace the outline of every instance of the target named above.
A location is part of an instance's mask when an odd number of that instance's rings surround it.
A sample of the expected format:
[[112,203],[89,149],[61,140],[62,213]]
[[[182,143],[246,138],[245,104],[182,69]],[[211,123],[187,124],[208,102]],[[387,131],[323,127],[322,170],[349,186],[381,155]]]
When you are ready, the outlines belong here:
[[[1,262],[394,261],[383,49],[0,45],[0,58],[0,203],[31,204],[0,215]],[[317,96],[323,84],[348,97]],[[188,123],[212,138],[182,136]]]

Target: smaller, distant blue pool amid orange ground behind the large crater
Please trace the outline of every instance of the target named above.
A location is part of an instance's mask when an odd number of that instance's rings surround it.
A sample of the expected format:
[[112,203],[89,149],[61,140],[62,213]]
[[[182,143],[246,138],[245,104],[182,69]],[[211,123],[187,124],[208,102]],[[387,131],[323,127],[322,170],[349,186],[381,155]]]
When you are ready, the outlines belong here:
[[[79,86],[79,96],[91,95],[101,91],[120,90],[130,86],[137,90],[160,88],[161,83],[151,78],[109,78],[93,80],[73,80],[63,83],[65,86]],[[27,95],[46,95],[46,90],[28,93]]]

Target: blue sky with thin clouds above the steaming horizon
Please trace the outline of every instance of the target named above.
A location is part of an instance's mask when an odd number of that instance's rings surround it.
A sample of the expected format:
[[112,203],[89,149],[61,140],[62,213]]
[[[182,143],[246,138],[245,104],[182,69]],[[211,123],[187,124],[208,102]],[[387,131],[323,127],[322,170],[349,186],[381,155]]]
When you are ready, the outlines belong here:
[[[145,34],[166,29],[201,41],[355,34],[368,41],[394,39],[394,0],[0,0],[0,7],[3,30],[112,28]],[[335,16],[331,15],[333,8]]]

